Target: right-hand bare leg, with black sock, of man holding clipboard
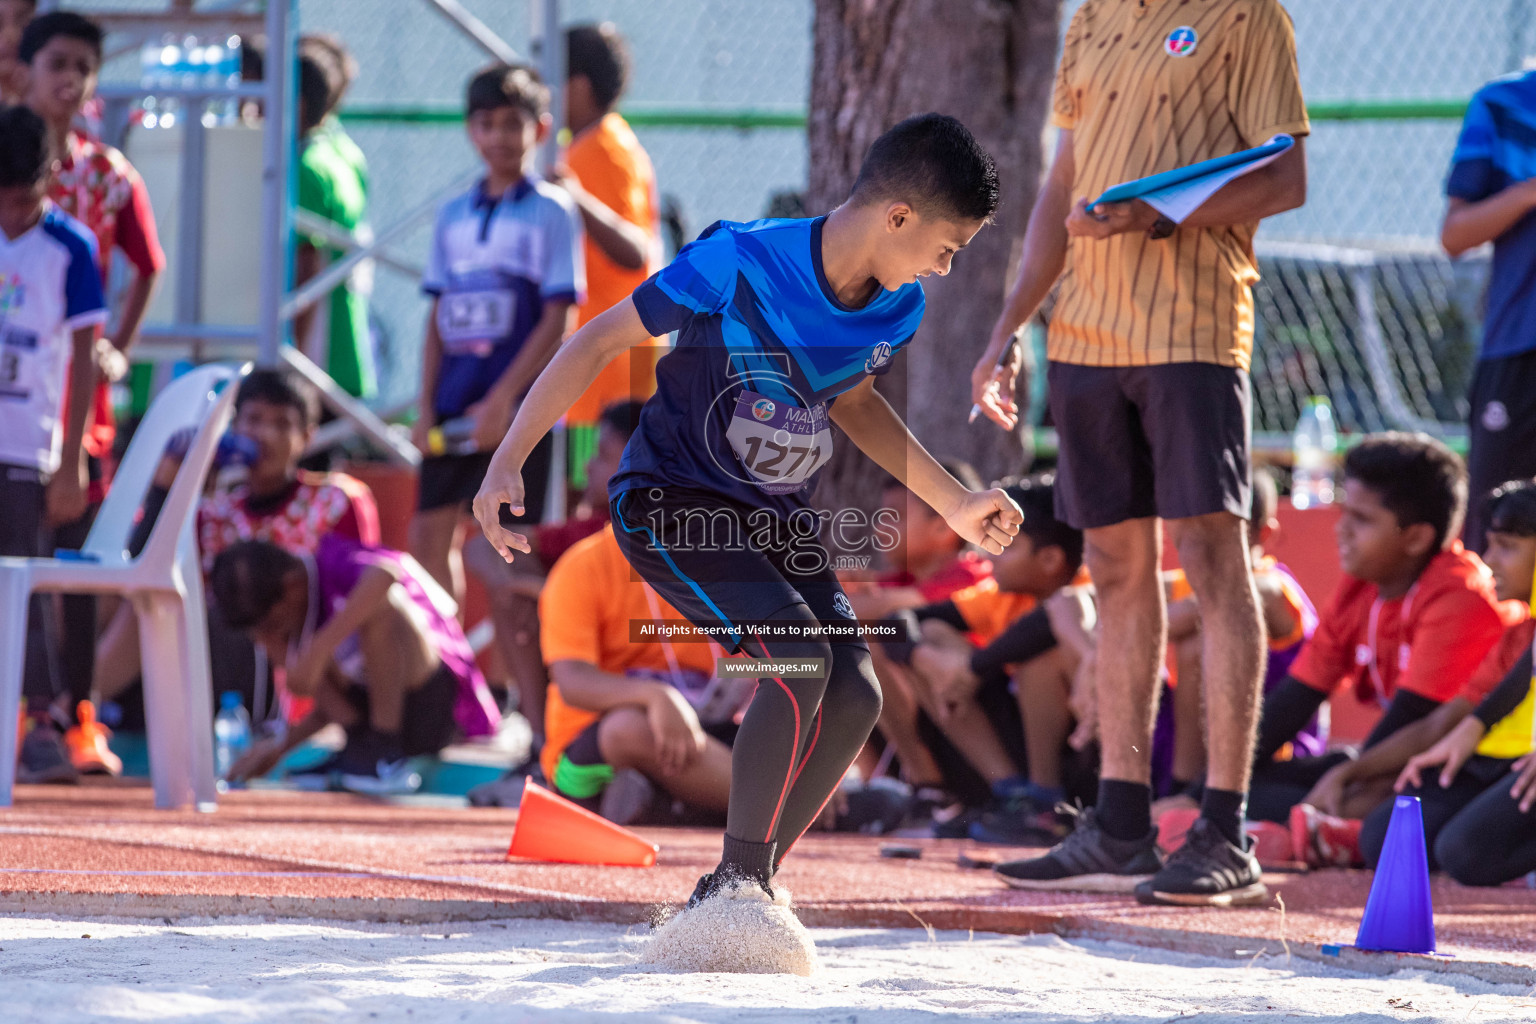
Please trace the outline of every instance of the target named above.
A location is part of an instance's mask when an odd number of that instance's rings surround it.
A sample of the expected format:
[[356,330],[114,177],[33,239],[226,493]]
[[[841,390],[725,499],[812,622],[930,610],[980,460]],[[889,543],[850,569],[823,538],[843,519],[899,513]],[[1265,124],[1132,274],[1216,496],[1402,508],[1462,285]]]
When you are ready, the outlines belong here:
[[1223,511],[1175,520],[1170,530],[1200,600],[1207,760],[1201,815],[1241,844],[1264,671],[1247,522]]

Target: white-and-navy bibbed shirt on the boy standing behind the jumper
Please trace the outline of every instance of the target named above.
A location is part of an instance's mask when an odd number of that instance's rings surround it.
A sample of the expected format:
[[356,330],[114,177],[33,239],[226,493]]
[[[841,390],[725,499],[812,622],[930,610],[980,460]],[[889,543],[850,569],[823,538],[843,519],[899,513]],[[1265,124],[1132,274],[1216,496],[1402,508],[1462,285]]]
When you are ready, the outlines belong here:
[[570,193],[524,178],[502,195],[485,183],[438,210],[421,282],[438,299],[439,422],[485,398],[544,315],[587,290],[581,213]]

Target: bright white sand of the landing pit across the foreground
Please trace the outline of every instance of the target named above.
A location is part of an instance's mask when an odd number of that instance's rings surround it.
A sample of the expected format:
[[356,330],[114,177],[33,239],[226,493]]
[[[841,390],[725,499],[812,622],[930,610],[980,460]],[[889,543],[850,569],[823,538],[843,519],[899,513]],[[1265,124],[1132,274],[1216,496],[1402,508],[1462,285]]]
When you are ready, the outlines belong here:
[[[81,938],[89,935],[91,938]],[[647,929],[0,917],[0,1021],[1531,1021],[1536,995],[1452,975],[1352,975],[1054,936],[814,930],[820,966],[684,975]]]

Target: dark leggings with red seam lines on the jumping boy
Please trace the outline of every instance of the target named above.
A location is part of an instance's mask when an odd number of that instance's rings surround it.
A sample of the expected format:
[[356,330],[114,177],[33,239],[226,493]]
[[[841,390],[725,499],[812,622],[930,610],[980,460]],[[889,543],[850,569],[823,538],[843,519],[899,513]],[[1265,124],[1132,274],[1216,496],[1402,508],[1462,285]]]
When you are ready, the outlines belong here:
[[[806,605],[771,622],[816,626]],[[725,832],[777,843],[774,866],[811,826],[880,717],[880,683],[862,642],[748,640],[753,657],[819,659],[823,677],[759,680],[731,749],[731,804]]]

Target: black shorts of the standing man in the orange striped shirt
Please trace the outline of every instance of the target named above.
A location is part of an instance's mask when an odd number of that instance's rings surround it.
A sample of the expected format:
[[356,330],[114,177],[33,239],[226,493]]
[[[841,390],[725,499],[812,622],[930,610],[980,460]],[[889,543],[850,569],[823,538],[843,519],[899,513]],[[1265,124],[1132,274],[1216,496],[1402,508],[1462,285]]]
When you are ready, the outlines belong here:
[[1057,516],[1078,530],[1229,511],[1247,519],[1253,405],[1244,370],[1213,362],[1052,362]]

